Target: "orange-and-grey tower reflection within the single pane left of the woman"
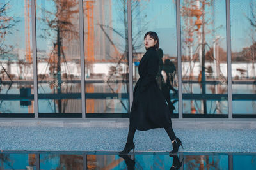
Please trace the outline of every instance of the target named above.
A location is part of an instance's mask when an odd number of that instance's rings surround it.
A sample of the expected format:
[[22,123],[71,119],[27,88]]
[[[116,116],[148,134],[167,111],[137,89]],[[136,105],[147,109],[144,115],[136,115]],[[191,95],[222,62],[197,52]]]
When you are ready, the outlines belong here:
[[[105,61],[113,57],[111,1],[84,1],[85,60]],[[91,43],[89,43],[91,42]]]

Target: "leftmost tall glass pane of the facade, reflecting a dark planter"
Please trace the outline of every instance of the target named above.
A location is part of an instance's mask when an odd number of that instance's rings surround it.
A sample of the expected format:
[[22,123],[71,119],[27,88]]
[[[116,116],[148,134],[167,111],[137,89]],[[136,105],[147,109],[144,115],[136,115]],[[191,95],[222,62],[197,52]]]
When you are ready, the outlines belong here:
[[30,1],[1,1],[0,18],[0,113],[34,113]]

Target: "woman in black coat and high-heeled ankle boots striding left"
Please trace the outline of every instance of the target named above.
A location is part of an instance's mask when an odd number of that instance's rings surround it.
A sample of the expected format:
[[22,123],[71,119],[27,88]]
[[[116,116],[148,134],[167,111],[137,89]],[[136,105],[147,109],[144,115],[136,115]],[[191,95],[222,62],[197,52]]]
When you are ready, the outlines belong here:
[[147,131],[154,128],[165,129],[172,141],[173,150],[170,154],[174,154],[178,152],[182,143],[173,132],[168,104],[156,82],[159,62],[157,55],[159,39],[156,32],[147,32],[145,34],[144,45],[147,52],[140,60],[140,78],[133,91],[134,101],[132,102],[127,143],[124,150],[119,154],[127,154],[132,149],[134,152],[133,138],[136,129]]

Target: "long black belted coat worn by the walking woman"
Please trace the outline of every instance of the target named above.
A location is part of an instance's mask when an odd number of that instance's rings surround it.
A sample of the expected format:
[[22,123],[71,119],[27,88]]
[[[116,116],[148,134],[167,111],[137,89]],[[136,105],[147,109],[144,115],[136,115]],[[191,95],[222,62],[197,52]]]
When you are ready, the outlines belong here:
[[130,127],[140,131],[172,125],[168,104],[156,82],[158,62],[153,47],[148,48],[140,60],[140,78],[133,91],[130,115]]

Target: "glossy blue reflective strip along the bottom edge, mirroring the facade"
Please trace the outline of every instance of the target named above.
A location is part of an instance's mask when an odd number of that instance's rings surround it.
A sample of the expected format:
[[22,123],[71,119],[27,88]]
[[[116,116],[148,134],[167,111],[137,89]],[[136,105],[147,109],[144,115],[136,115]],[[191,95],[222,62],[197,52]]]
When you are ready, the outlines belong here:
[[256,153],[168,152],[0,153],[0,169],[256,169]]

